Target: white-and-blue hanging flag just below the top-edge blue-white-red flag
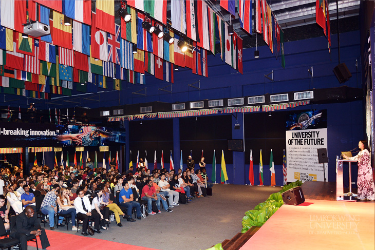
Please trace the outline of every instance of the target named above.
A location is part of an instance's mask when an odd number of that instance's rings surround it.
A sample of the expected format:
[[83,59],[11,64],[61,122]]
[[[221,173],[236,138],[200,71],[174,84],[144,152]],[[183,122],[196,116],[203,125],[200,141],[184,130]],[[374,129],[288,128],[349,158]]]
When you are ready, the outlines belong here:
[[[80,1],[80,2],[85,2],[85,1]],[[81,24],[74,20],[73,20],[73,50],[86,54],[86,55],[90,55],[90,26]]]

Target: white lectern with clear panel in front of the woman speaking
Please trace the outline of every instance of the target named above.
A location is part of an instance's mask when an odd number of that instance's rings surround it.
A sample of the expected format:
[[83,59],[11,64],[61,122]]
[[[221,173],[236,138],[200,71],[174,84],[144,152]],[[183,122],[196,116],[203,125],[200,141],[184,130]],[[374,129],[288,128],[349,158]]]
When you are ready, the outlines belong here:
[[[336,157],[336,201],[356,201],[352,200],[352,197],[357,197],[356,194],[351,192],[351,163],[357,161],[351,160],[339,160]],[[349,163],[349,193],[344,194],[344,176],[343,176],[343,166]],[[349,200],[344,200],[344,196],[348,196]]]

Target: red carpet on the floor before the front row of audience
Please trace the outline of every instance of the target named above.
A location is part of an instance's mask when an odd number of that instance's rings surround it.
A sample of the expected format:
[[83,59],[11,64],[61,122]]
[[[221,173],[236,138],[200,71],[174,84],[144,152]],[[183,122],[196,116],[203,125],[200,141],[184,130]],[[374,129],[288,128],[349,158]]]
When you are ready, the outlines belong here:
[[[48,250],[67,250],[69,248],[80,249],[80,250],[92,250],[92,249],[127,249],[127,250],[155,250],[155,248],[148,248],[143,246],[128,245],[108,240],[100,240],[91,236],[78,236],[46,230],[49,243]],[[110,235],[108,235],[110,237]],[[39,249],[42,249],[41,241],[37,237]],[[69,243],[69,245],[67,245]],[[29,246],[36,247],[34,242],[29,241]]]

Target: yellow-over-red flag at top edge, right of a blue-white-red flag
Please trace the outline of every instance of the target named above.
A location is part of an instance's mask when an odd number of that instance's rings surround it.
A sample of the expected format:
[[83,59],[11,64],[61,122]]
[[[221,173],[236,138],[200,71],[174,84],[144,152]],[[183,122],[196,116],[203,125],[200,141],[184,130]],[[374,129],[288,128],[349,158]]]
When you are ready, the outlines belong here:
[[97,0],[97,28],[115,34],[115,1]]

